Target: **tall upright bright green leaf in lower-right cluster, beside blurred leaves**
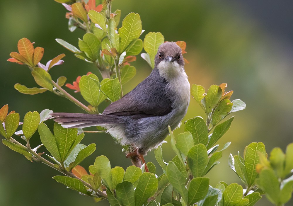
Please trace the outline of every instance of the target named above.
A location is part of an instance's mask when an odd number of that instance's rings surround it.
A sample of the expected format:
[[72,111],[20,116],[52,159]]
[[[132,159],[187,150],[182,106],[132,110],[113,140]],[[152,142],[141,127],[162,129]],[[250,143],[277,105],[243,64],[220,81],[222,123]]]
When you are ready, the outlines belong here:
[[255,167],[260,163],[259,154],[266,154],[265,145],[262,142],[252,142],[246,148],[244,165],[247,172],[247,183],[248,186],[254,184],[255,178],[258,176]]

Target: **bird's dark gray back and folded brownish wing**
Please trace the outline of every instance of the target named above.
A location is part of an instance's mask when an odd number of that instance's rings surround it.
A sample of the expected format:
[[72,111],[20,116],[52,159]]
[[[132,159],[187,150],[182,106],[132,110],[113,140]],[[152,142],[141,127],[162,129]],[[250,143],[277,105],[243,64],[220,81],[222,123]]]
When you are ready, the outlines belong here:
[[120,100],[111,103],[103,112],[108,115],[139,119],[147,116],[162,116],[171,112],[172,102],[166,92],[166,84],[154,69],[150,76],[138,84]]

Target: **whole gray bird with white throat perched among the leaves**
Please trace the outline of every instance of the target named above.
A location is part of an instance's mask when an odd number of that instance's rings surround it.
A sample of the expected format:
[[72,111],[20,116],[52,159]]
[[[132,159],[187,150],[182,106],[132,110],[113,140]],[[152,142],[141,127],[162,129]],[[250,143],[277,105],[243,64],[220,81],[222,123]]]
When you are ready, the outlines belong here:
[[[151,74],[102,114],[52,113],[65,128],[102,126],[122,145],[132,145],[143,163],[148,151],[161,145],[184,118],[190,84],[182,50],[176,42],[159,46]],[[135,152],[132,152],[135,153]],[[132,154],[131,152],[129,154]]]

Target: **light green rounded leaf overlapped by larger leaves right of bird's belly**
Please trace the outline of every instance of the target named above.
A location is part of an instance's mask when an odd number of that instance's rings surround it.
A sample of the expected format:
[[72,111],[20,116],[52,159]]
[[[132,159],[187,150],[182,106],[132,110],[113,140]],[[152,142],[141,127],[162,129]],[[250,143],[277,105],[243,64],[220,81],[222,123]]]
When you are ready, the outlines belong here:
[[176,147],[187,156],[188,151],[193,147],[193,138],[190,132],[180,133],[176,137]]

